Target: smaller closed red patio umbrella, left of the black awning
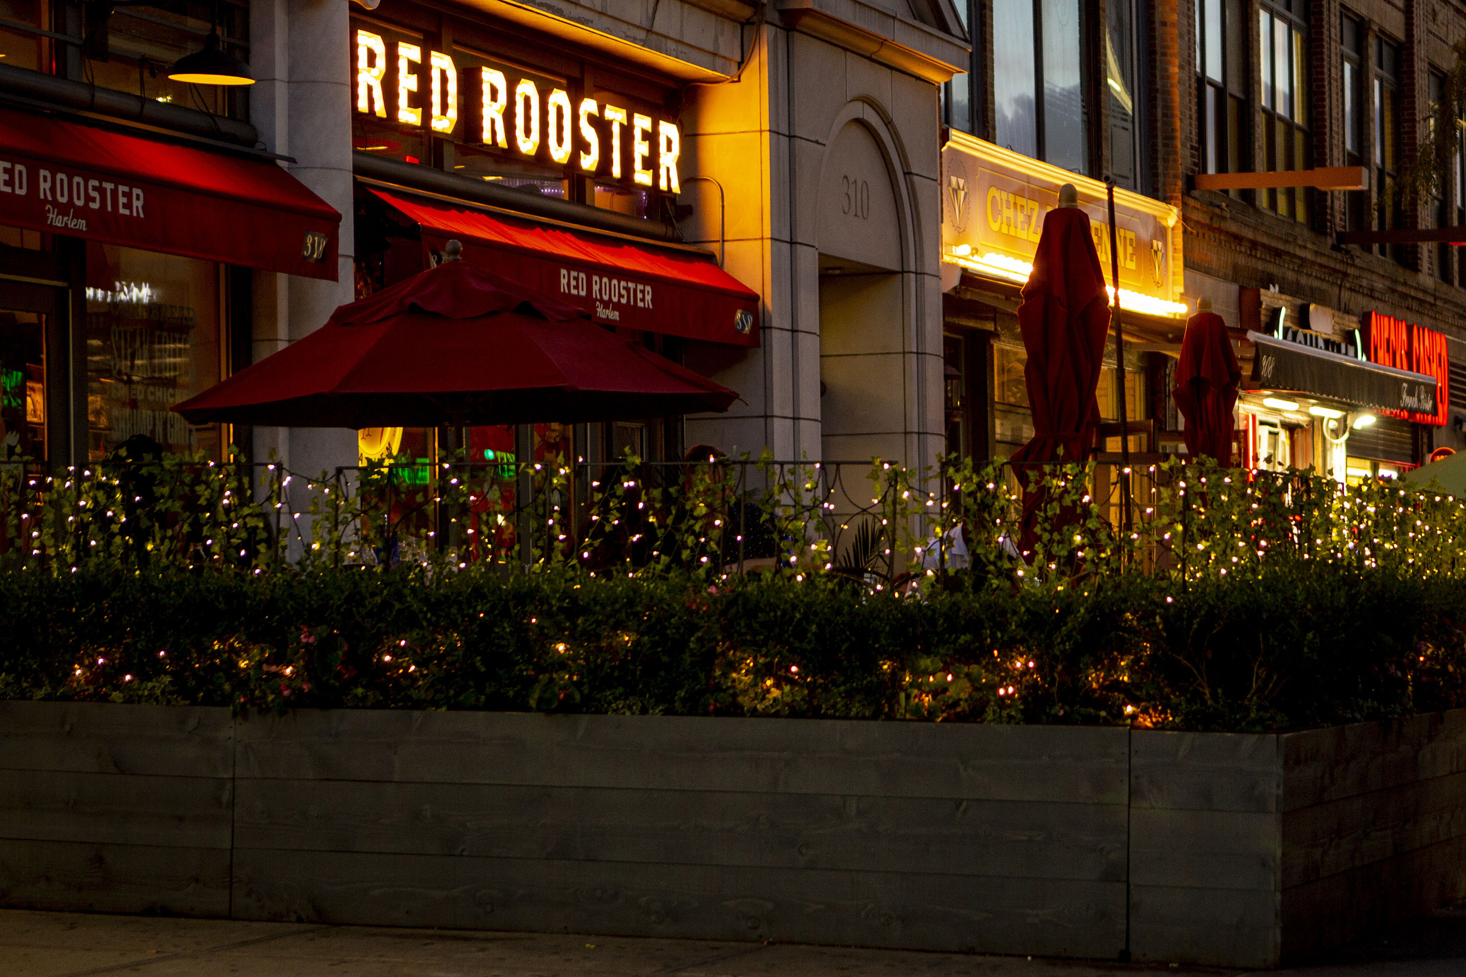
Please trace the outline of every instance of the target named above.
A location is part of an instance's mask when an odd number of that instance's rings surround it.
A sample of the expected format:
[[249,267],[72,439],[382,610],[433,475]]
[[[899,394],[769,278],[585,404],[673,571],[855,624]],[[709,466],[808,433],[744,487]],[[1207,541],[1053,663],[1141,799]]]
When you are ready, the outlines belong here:
[[1227,324],[1220,315],[1205,309],[1209,305],[1186,319],[1171,400],[1186,419],[1182,437],[1190,457],[1207,456],[1229,467],[1234,426],[1231,410],[1237,404],[1242,369],[1231,350]]

